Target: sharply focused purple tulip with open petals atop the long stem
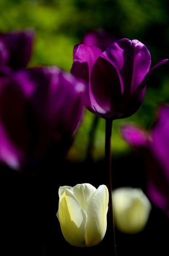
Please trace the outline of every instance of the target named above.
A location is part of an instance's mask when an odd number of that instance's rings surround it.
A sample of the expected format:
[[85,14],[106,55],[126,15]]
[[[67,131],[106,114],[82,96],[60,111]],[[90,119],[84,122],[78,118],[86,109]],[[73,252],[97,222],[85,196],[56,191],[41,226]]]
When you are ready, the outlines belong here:
[[137,111],[147,80],[166,61],[150,69],[151,55],[146,46],[123,38],[104,52],[91,45],[76,46],[71,72],[88,84],[86,108],[103,118],[118,119]]

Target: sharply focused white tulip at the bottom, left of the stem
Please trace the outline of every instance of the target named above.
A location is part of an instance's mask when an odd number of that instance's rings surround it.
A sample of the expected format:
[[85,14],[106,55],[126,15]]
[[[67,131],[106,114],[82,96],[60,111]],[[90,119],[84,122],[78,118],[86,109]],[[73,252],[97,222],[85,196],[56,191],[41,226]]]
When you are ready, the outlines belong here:
[[98,189],[89,183],[60,186],[57,218],[69,244],[89,247],[102,241],[107,227],[108,201],[105,185]]

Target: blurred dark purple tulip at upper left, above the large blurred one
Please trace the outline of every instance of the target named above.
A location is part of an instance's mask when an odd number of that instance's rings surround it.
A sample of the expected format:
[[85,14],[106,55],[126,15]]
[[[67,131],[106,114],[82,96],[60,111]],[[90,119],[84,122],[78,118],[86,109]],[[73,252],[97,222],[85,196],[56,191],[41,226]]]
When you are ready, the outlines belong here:
[[0,70],[25,68],[32,53],[34,31],[26,29],[0,33]]

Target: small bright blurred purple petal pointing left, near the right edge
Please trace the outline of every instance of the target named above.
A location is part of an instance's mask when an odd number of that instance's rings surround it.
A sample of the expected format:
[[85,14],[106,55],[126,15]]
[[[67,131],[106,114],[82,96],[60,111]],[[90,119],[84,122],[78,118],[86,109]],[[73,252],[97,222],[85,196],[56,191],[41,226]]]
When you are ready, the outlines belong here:
[[134,147],[144,146],[147,140],[147,134],[142,129],[133,125],[123,125],[121,128],[123,140]]

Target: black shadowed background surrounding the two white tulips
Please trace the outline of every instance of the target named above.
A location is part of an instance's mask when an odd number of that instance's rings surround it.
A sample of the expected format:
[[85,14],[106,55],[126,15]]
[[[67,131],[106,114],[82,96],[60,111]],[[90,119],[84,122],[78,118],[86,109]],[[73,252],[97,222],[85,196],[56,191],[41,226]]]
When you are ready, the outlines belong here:
[[[46,167],[47,168],[47,167]],[[1,173],[1,250],[4,256],[15,255],[102,255],[112,253],[109,235],[109,214],[106,235],[100,244],[78,248],[66,242],[56,217],[58,187],[92,183],[106,184],[103,160],[97,163],[71,163],[65,161],[37,176],[19,174],[7,168]],[[1,168],[2,169],[2,168]],[[112,162],[113,187],[133,186],[145,188],[144,165],[134,153]],[[116,171],[118,170],[118,171]],[[49,171],[49,172],[48,172]],[[47,172],[47,173],[45,173]],[[167,255],[169,220],[152,205],[149,221],[143,231],[124,234],[115,229],[117,256]]]

